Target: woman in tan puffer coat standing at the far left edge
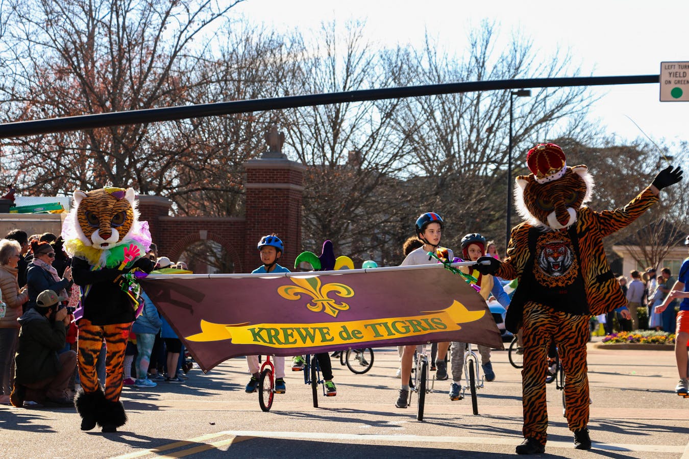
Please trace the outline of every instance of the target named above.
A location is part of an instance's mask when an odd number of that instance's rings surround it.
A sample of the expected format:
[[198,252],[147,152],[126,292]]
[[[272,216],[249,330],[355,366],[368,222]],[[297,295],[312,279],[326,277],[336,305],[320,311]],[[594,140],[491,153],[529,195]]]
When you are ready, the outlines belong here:
[[19,290],[17,283],[17,262],[21,253],[19,242],[0,240],[0,292],[7,304],[5,317],[0,319],[0,404],[9,405],[12,393],[12,360],[19,337],[21,306],[29,301],[26,288]]

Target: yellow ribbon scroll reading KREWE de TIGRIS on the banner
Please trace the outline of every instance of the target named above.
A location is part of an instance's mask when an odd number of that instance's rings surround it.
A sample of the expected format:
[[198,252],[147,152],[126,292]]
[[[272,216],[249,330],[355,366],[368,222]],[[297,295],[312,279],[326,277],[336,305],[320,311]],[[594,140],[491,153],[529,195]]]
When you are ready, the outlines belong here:
[[485,310],[470,311],[459,301],[439,311],[422,311],[410,317],[365,319],[322,323],[240,323],[225,325],[201,320],[201,332],[188,341],[223,341],[232,344],[267,345],[271,348],[303,348],[321,345],[365,343],[434,332],[460,330],[460,323],[481,319]]

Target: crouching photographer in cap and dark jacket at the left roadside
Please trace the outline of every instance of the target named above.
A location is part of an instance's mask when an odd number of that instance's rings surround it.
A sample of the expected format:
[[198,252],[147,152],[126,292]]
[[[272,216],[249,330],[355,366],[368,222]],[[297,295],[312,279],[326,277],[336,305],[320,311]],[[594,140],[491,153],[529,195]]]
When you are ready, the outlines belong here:
[[43,290],[36,306],[18,319],[21,328],[10,395],[15,407],[22,407],[24,401],[52,407],[74,405],[66,389],[76,367],[76,352],[58,354],[65,348],[70,325],[67,308],[60,306],[65,299],[52,290]]

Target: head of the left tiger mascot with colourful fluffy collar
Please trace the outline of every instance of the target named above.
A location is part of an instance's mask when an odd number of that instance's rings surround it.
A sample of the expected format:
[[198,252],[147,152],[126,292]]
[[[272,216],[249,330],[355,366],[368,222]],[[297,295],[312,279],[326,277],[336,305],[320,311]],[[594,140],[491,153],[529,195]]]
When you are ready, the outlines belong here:
[[151,243],[147,222],[139,222],[132,188],[74,191],[74,206],[63,224],[65,251],[94,266],[119,266],[143,255]]

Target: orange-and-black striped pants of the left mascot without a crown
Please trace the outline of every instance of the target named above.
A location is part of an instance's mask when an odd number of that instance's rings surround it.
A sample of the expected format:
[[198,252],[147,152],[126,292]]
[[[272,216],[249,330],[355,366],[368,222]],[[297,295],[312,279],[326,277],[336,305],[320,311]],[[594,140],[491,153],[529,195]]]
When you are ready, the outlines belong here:
[[123,381],[123,361],[132,323],[94,325],[88,319],[79,319],[78,361],[81,388],[86,394],[99,387],[96,361],[105,339],[105,398],[116,402],[120,399]]

